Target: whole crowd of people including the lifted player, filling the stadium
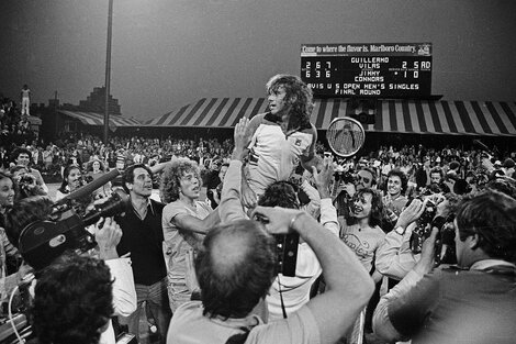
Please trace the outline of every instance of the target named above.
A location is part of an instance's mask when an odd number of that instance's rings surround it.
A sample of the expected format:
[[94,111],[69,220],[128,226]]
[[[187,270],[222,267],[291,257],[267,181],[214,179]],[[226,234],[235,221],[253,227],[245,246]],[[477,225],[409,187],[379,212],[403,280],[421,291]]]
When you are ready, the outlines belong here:
[[514,342],[513,147],[341,158],[318,142],[300,78],[274,76],[267,95],[269,111],[243,118],[233,142],[83,135],[2,148],[3,301],[31,270],[20,265],[31,224],[61,221],[63,207],[86,219],[126,195],[85,230],[96,248],[32,266],[38,342],[143,337],[144,304],[159,343]]

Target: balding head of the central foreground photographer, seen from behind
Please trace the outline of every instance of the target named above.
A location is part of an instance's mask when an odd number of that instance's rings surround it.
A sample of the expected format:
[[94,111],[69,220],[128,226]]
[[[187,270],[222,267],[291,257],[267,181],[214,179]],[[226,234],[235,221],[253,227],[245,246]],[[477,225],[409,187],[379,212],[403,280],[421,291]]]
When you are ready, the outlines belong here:
[[276,242],[258,222],[237,220],[210,230],[195,259],[203,314],[247,317],[267,296],[276,264]]

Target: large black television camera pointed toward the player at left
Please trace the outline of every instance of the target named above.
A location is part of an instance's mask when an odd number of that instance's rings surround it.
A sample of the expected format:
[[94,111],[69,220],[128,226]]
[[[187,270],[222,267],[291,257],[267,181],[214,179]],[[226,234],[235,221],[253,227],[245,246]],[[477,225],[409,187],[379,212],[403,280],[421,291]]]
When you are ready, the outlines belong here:
[[[85,212],[77,211],[77,202],[91,199],[92,192],[111,181],[120,174],[114,169],[100,178],[87,184],[53,204],[53,211],[45,220],[26,225],[19,237],[19,251],[24,260],[34,269],[35,274],[43,271],[55,258],[66,251],[86,253],[97,246],[94,235],[86,228],[94,224],[100,218],[109,218],[125,211],[130,202],[128,196],[121,189],[114,191],[102,203],[90,206]],[[79,209],[83,209],[79,207]],[[0,342],[22,343],[21,340],[33,336],[31,325],[25,314],[32,302],[29,287],[34,274],[26,275],[18,286],[20,290],[20,306],[16,313],[2,319],[0,317]],[[11,295],[11,299],[14,292]],[[120,343],[133,343],[134,335],[121,336]],[[127,341],[128,339],[128,341]]]

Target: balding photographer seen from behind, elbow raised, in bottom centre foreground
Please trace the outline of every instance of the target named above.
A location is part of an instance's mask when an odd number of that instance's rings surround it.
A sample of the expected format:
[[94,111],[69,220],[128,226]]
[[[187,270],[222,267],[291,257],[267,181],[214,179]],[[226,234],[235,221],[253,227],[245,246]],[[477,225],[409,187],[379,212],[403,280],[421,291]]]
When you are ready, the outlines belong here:
[[[335,343],[366,306],[373,284],[355,254],[305,212],[257,207],[263,226],[237,220],[210,230],[195,259],[202,301],[182,304],[167,343]],[[327,291],[289,319],[263,324],[253,309],[276,277],[270,234],[296,232],[315,252]]]

